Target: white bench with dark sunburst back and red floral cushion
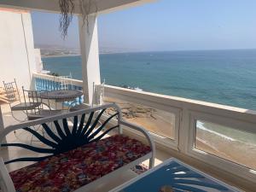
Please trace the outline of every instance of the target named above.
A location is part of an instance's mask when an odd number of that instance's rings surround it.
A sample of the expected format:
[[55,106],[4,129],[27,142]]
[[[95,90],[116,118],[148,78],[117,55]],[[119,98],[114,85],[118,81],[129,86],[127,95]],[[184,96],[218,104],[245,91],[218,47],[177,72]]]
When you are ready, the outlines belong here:
[[[112,113],[106,113],[107,109]],[[148,132],[125,122],[121,116],[116,104],[107,104],[7,127],[0,133],[1,148],[21,148],[29,156],[5,161],[0,158],[1,189],[3,192],[91,191],[144,160],[149,159],[151,168],[155,149]],[[147,144],[125,136],[123,126],[139,131]],[[3,143],[4,137],[18,130],[36,140]],[[32,165],[8,172],[7,165],[22,161]]]

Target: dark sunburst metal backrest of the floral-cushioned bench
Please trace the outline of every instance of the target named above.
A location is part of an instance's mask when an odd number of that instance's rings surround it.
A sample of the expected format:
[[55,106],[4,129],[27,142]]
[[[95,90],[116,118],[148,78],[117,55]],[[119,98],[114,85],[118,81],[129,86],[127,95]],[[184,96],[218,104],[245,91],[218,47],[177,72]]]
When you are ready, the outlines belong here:
[[[112,110],[111,115],[106,116],[106,110]],[[14,160],[6,160],[9,164],[17,161],[40,161],[55,154],[61,154],[73,148],[78,148],[88,143],[96,142],[106,136],[109,131],[119,128],[120,110],[115,104],[108,104],[97,108],[80,110],[73,113],[56,115],[49,118],[38,119],[20,125],[7,127],[0,133],[0,142],[10,132],[15,130],[26,131],[32,137],[37,138],[36,146],[33,143],[2,143],[1,147],[23,148],[40,155],[19,157]],[[71,119],[71,120],[70,120]],[[115,121],[111,121],[115,119]],[[117,120],[116,120],[117,119]],[[101,121],[101,124],[98,124]],[[113,125],[114,122],[114,125]],[[45,134],[34,129],[41,126]],[[27,154],[27,153],[26,153]],[[42,156],[43,154],[43,156]]]

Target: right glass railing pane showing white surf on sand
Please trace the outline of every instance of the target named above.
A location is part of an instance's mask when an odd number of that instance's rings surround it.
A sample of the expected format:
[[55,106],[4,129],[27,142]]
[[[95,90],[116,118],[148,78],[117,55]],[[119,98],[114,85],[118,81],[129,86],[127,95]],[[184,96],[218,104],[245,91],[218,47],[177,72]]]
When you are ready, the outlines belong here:
[[256,134],[197,120],[195,148],[256,170]]

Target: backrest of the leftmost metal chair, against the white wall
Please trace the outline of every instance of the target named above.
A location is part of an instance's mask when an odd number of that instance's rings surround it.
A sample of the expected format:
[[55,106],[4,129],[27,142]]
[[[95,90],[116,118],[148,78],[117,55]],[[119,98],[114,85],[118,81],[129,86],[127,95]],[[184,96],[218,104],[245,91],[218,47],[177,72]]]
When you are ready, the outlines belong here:
[[[6,83],[3,81],[6,98],[9,104],[20,101],[20,93],[16,83],[16,79],[13,82]],[[21,101],[20,101],[21,102]]]

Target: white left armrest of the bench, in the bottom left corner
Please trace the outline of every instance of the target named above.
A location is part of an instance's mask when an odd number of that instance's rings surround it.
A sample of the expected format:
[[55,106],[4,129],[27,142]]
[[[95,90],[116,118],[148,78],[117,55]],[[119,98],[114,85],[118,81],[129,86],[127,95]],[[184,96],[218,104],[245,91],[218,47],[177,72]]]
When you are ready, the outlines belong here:
[[4,165],[3,158],[0,157],[0,188],[3,192],[15,192],[15,185],[9,176],[9,172]]

